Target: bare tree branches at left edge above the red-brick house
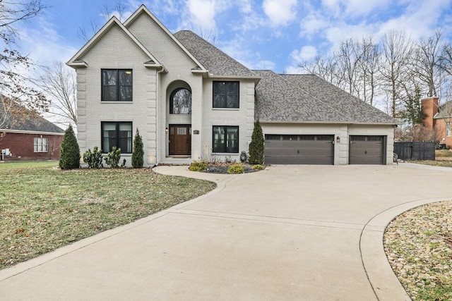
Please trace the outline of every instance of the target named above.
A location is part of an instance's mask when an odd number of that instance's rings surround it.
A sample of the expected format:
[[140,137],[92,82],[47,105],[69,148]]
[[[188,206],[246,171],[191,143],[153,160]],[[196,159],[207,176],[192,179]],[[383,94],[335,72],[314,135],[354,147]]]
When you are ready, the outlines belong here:
[[0,128],[12,115],[20,119],[28,110],[47,109],[47,99],[42,92],[32,88],[32,80],[18,71],[30,70],[34,64],[28,56],[15,49],[19,39],[15,25],[37,16],[44,8],[41,0],[0,0],[0,47],[3,48],[0,54],[0,106],[4,114]]

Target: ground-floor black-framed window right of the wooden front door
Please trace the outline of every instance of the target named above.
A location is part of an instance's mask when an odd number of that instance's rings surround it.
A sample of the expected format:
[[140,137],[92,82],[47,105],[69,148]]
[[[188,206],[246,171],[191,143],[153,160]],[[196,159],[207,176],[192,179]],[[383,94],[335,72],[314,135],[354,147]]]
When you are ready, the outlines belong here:
[[239,152],[239,127],[214,125],[212,135],[213,152]]

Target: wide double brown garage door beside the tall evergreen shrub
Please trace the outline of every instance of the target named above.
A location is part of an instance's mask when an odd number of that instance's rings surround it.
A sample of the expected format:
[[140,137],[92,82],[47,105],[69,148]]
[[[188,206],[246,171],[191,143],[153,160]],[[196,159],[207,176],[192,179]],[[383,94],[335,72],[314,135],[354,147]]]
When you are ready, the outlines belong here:
[[334,164],[334,135],[266,135],[266,164]]

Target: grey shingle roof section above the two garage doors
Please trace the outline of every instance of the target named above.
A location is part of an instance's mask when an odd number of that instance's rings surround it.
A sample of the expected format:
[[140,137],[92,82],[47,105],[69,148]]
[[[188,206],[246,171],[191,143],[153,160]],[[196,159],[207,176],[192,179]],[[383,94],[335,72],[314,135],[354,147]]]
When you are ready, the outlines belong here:
[[398,120],[317,75],[276,74],[254,70],[256,117],[268,122],[388,123]]

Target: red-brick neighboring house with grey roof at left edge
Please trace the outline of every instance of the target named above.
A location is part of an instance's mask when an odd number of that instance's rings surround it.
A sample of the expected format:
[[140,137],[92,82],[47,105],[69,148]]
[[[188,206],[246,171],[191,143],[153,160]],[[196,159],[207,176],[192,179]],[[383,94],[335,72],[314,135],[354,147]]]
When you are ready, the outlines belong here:
[[2,118],[0,160],[59,160],[64,130],[25,108],[26,118]]

